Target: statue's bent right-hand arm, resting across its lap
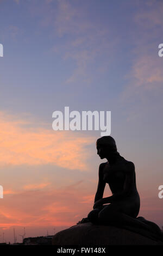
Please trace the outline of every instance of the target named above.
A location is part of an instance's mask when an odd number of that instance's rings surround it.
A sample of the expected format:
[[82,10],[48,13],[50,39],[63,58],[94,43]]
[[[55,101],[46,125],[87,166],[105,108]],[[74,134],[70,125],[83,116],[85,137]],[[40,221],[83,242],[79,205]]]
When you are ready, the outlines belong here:
[[124,199],[130,194],[135,179],[135,166],[133,162],[127,162],[126,170],[124,170],[126,174],[126,180],[124,181],[123,191],[113,194],[111,197],[103,198],[103,204],[114,203],[121,199]]

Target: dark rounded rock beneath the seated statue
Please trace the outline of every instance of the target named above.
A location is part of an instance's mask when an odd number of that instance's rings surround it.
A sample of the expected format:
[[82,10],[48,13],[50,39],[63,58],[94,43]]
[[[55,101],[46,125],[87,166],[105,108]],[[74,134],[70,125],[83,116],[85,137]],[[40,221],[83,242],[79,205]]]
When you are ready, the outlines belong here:
[[53,245],[163,245],[143,235],[109,225],[80,223],[53,236]]

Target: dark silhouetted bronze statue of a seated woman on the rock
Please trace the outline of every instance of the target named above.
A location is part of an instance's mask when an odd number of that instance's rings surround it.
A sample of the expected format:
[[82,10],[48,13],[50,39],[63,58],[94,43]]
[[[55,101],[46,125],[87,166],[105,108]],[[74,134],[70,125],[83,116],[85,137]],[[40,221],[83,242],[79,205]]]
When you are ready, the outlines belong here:
[[[140,197],[136,188],[135,166],[117,152],[114,138],[104,136],[97,139],[97,154],[108,160],[99,165],[98,187],[93,210],[79,223],[115,225],[136,231],[152,239],[162,239],[161,230],[155,223],[137,217]],[[106,183],[112,196],[103,198]]]

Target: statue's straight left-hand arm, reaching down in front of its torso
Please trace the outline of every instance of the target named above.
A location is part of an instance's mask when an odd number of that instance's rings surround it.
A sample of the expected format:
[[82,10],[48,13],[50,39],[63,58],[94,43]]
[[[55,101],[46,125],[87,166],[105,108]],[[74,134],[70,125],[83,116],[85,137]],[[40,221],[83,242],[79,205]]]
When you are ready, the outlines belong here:
[[106,182],[103,180],[103,168],[105,166],[105,163],[101,163],[99,165],[98,170],[98,186],[97,186],[97,192],[95,196],[95,202],[101,198],[103,198],[103,193],[105,189]]

